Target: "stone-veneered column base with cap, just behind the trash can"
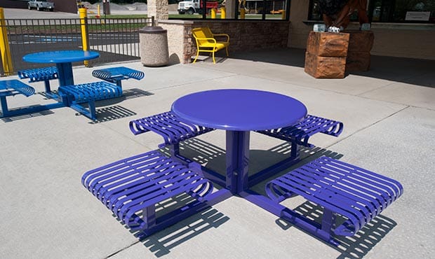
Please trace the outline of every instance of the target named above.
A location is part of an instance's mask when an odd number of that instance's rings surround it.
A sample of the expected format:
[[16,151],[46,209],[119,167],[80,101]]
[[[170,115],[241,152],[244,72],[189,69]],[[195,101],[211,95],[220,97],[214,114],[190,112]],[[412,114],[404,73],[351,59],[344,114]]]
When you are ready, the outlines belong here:
[[168,30],[169,64],[188,64],[193,51],[192,25],[187,20],[160,20],[159,26]]

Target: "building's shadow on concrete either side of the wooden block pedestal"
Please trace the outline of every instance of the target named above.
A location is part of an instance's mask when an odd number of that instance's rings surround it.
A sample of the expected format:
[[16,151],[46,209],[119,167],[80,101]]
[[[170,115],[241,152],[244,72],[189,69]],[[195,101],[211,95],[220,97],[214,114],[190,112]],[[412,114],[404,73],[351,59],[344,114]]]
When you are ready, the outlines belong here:
[[[231,58],[304,67],[305,50],[298,48],[278,48],[273,50],[233,52],[231,53]],[[380,78],[425,87],[435,87],[434,67],[435,60],[372,55],[370,69],[368,71],[351,72],[348,74]],[[319,80],[328,79],[323,78]]]

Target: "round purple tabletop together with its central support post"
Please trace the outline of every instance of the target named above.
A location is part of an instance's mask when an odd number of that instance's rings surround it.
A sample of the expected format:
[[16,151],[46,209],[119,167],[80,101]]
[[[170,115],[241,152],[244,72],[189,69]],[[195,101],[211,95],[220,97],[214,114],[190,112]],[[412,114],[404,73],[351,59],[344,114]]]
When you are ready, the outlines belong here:
[[226,130],[226,188],[239,194],[249,188],[250,131],[294,125],[307,115],[302,102],[260,90],[223,89],[187,94],[172,111],[189,123]]

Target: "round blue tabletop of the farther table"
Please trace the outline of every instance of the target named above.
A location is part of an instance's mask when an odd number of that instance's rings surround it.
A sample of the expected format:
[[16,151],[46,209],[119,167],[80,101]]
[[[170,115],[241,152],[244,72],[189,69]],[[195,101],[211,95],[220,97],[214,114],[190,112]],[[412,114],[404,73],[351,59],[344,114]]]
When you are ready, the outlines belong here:
[[95,59],[97,57],[100,57],[100,54],[95,51],[56,50],[27,54],[22,57],[22,60],[34,63],[66,63]]

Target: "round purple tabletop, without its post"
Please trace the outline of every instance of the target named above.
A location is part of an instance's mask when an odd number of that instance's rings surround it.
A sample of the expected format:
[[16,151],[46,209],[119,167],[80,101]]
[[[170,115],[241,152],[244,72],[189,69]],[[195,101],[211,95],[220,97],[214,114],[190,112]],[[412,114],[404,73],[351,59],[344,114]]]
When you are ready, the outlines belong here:
[[196,125],[221,130],[272,130],[298,123],[307,108],[297,99],[259,90],[210,90],[180,97],[172,104],[177,116]]

